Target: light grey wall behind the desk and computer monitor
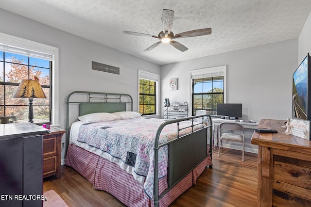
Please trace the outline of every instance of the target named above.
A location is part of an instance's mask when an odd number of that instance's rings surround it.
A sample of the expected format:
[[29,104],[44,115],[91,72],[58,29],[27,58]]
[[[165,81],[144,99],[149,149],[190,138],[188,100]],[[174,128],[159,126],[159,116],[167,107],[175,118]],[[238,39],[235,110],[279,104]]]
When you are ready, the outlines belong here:
[[[227,103],[242,103],[244,120],[292,116],[292,74],[297,67],[298,39],[167,64],[161,67],[161,100],[189,100],[189,71],[227,65]],[[177,91],[169,80],[178,78]],[[190,103],[191,104],[191,103]]]

